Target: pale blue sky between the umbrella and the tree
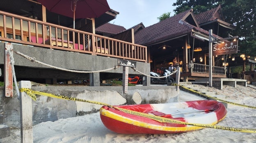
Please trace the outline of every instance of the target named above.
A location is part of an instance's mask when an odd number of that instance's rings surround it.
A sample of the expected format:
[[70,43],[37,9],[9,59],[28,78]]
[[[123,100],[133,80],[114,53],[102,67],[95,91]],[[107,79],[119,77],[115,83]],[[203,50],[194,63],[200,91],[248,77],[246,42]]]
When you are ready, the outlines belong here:
[[114,25],[129,29],[139,23],[145,27],[153,25],[163,13],[174,15],[176,0],[107,0],[110,9],[119,12],[116,19],[110,21]]

